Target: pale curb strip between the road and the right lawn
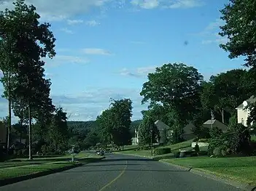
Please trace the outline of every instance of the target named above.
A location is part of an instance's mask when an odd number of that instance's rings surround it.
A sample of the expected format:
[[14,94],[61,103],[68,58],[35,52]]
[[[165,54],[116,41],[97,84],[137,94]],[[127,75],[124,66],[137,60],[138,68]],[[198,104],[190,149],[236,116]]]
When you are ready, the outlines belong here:
[[203,171],[203,170],[198,169],[198,168],[188,168],[188,167],[185,167],[185,166],[179,166],[177,164],[168,163],[164,160],[159,160],[159,162],[164,163],[168,166],[173,166],[174,168],[179,168],[179,169],[182,169],[184,171],[188,171],[190,173],[197,174],[199,176],[206,177],[208,179],[212,179],[212,180],[215,180],[215,181],[218,181],[218,182],[223,182],[225,184],[229,184],[233,187],[240,188],[244,191],[256,191],[255,186],[252,186],[250,184],[241,184],[241,183],[238,183],[238,182],[233,181],[233,180],[228,179],[228,178],[222,179],[221,177],[212,174],[210,171]]

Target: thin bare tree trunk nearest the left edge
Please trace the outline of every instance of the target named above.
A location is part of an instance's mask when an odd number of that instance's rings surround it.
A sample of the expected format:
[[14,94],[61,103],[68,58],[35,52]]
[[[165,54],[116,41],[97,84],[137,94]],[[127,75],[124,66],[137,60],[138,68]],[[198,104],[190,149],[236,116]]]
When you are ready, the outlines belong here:
[[8,125],[7,125],[7,153],[9,153],[10,131],[12,129],[12,98],[11,98],[11,75],[8,76]]

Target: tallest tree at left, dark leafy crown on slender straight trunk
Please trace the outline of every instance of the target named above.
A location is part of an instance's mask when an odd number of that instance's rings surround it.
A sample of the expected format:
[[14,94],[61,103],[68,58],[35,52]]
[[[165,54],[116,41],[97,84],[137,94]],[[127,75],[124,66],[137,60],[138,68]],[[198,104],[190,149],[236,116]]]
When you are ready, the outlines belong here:
[[1,12],[0,25],[3,27],[0,35],[4,42],[15,41],[9,49],[11,54],[15,55],[15,63],[18,63],[13,87],[14,96],[16,100],[28,105],[29,158],[31,158],[31,107],[42,105],[40,100],[42,96],[39,95],[42,95],[41,88],[46,81],[43,74],[44,62],[41,58],[47,55],[50,58],[55,56],[55,38],[49,30],[49,23],[39,23],[40,16],[36,13],[36,7],[28,6],[24,0],[17,0],[13,4],[15,9]]

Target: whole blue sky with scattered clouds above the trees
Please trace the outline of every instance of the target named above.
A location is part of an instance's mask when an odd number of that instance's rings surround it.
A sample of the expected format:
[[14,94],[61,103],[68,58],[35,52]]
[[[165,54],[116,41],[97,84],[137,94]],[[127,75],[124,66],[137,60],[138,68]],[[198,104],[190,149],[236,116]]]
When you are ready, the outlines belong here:
[[[193,65],[208,79],[241,68],[228,59],[217,35],[219,10],[227,0],[31,0],[42,21],[52,24],[57,55],[46,59],[51,97],[69,120],[87,121],[109,106],[109,98],[133,101],[141,118],[142,84],[166,62]],[[0,0],[0,9],[11,1]],[[7,102],[0,99],[0,117]]]

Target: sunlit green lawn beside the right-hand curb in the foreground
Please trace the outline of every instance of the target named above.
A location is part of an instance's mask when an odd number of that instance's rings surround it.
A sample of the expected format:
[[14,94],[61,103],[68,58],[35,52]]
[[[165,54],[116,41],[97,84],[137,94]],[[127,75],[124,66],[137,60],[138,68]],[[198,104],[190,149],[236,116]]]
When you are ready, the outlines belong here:
[[212,172],[217,176],[233,179],[237,182],[256,184],[256,157],[239,158],[172,158],[163,159],[168,163],[198,168]]

